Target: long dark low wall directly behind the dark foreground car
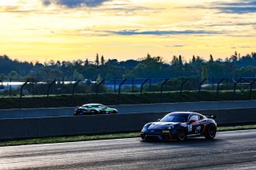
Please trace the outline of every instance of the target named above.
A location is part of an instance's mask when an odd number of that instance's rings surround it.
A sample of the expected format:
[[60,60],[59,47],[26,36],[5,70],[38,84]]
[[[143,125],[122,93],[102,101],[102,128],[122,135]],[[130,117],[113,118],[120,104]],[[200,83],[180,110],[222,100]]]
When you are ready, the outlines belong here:
[[[256,122],[256,108],[200,110],[198,113],[216,115],[218,125]],[[0,120],[0,140],[110,132],[138,132],[147,122],[157,121],[158,118],[164,115],[166,115],[166,112],[2,119]]]

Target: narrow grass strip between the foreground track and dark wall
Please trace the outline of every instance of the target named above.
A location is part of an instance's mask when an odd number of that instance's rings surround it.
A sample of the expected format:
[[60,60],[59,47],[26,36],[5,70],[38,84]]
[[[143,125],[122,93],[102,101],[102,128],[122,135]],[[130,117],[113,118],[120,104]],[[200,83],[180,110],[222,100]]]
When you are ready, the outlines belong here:
[[[256,125],[226,125],[218,127],[220,131],[232,131],[232,130],[245,130],[256,129]],[[6,140],[0,142],[0,146],[14,146],[25,144],[52,144],[62,142],[74,142],[74,141],[87,141],[87,140],[110,140],[110,139],[122,139],[139,137],[140,132],[126,132],[126,133],[113,133],[102,135],[90,135],[90,136],[57,136],[57,137],[42,137],[26,140]]]

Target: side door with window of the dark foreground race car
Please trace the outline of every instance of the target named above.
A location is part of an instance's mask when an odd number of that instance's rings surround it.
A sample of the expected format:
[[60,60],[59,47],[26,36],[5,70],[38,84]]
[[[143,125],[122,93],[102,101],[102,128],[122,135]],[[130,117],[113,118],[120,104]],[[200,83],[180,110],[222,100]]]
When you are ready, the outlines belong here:
[[193,114],[189,118],[188,123],[188,133],[189,134],[198,134],[201,132],[200,116]]

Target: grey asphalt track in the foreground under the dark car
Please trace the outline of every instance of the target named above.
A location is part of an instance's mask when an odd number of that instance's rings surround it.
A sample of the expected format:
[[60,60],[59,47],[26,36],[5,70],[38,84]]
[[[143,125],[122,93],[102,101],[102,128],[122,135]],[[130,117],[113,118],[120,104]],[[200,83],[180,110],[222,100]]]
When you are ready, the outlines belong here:
[[0,169],[256,169],[256,130],[215,140],[140,138],[0,148]]

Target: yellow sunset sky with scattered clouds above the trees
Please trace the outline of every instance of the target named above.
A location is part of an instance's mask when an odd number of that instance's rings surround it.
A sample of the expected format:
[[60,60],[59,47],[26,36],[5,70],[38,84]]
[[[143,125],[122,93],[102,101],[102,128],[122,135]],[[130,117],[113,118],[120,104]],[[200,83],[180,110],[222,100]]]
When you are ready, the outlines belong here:
[[0,22],[0,55],[19,61],[256,51],[256,0],[0,0]]

